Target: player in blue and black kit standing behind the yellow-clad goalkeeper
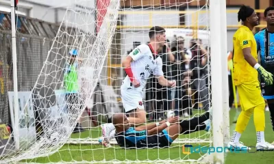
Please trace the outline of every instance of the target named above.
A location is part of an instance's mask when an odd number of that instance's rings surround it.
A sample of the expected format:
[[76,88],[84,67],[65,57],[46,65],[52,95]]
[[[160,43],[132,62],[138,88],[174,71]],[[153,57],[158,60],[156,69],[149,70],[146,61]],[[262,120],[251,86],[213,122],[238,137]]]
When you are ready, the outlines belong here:
[[[266,71],[274,73],[274,7],[271,6],[264,10],[267,27],[255,35],[257,42],[257,51],[260,51],[262,66]],[[272,128],[274,131],[274,86],[265,85],[264,79],[261,79],[261,89],[264,99],[269,103]],[[274,142],[273,142],[274,143]]]

